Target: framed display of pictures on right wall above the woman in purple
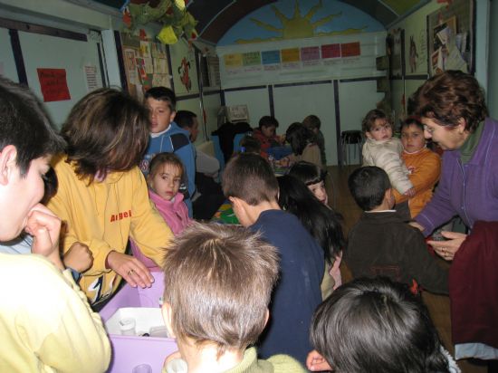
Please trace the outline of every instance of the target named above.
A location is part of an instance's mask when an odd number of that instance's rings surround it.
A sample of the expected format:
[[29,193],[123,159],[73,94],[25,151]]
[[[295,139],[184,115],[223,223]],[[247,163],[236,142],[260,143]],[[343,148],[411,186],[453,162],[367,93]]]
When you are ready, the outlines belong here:
[[427,72],[474,72],[474,0],[455,0],[427,15]]

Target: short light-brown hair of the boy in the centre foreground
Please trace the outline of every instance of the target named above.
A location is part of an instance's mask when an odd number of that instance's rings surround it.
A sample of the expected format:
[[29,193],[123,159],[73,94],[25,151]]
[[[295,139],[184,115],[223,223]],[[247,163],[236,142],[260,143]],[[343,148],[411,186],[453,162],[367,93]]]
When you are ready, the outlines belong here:
[[168,248],[164,300],[178,339],[245,349],[264,328],[278,253],[236,225],[194,224]]

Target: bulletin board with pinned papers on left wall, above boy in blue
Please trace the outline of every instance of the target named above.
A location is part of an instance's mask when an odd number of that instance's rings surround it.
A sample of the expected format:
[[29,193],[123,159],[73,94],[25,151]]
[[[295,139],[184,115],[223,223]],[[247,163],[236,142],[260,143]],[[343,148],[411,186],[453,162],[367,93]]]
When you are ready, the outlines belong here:
[[142,34],[121,33],[122,59],[129,94],[139,100],[152,87],[171,88],[168,51],[163,43],[156,43]]

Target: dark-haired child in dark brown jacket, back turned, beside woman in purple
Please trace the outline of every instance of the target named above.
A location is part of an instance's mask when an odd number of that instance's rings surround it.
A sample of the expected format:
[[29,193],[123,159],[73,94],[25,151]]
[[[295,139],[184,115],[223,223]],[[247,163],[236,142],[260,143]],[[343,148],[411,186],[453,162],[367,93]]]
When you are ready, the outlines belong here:
[[[360,167],[348,179],[351,195],[364,211],[350,230],[346,263],[354,277],[388,276],[394,281],[437,293],[448,293],[448,271],[427,251],[420,231],[392,210],[388,174],[379,167]],[[415,282],[414,282],[415,280]]]

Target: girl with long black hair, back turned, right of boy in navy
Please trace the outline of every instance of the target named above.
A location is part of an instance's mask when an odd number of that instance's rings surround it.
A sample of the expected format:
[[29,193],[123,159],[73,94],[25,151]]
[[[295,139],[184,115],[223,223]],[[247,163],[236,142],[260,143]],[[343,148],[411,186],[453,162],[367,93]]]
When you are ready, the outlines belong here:
[[296,215],[323,249],[325,273],[321,280],[321,298],[325,299],[342,282],[339,265],[346,244],[340,225],[342,216],[322,204],[301,180],[290,175],[277,177],[277,180],[279,206]]

